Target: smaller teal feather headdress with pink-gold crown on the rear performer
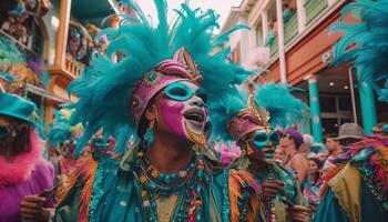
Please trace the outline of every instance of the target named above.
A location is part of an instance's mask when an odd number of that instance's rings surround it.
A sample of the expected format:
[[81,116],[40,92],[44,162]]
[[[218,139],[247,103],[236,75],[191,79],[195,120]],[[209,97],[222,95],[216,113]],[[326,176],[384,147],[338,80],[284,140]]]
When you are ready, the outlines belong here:
[[229,94],[229,102],[212,102],[208,107],[212,140],[239,140],[258,128],[287,128],[308,113],[309,108],[292,94],[295,88],[273,82],[255,85],[255,92]]

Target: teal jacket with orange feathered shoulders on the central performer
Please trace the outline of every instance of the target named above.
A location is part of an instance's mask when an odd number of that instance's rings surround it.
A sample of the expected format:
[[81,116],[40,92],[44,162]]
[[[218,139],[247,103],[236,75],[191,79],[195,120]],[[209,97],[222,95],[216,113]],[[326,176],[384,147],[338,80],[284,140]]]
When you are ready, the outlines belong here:
[[[121,161],[106,157],[82,160],[52,221],[146,221],[136,150],[131,149]],[[223,169],[202,154],[197,158],[205,163],[203,221],[263,221],[259,189],[251,174]]]

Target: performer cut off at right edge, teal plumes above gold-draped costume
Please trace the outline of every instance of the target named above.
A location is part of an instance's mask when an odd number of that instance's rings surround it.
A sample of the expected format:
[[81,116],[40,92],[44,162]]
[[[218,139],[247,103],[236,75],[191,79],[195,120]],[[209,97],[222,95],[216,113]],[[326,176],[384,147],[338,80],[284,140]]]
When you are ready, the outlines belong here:
[[[347,6],[358,23],[337,24],[344,36],[335,47],[335,63],[354,62],[360,81],[371,83],[379,99],[387,100],[388,1],[358,0]],[[338,167],[326,173],[323,201],[315,221],[388,221],[387,138],[364,138],[338,157]]]

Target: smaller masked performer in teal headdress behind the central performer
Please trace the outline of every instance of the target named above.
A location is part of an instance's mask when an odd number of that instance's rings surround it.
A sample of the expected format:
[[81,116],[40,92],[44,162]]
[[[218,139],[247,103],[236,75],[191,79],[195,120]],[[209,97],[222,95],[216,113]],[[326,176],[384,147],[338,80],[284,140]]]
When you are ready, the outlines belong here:
[[257,87],[255,97],[236,92],[225,103],[211,102],[208,108],[216,125],[213,140],[235,140],[242,157],[234,167],[247,169],[263,184],[267,221],[305,221],[307,209],[294,174],[274,160],[279,140],[274,129],[294,123],[307,107],[286,85],[268,83]]

